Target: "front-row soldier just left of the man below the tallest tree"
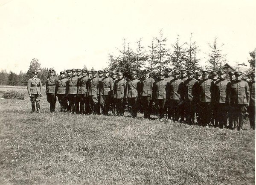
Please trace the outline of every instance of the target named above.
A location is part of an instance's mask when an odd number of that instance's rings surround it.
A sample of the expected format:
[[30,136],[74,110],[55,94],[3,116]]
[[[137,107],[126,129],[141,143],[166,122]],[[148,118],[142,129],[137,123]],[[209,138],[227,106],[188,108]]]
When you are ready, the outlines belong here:
[[143,106],[143,113],[145,119],[150,119],[151,108],[153,104],[153,85],[154,78],[150,77],[150,71],[144,69],[144,77],[142,79],[142,91],[140,98]]

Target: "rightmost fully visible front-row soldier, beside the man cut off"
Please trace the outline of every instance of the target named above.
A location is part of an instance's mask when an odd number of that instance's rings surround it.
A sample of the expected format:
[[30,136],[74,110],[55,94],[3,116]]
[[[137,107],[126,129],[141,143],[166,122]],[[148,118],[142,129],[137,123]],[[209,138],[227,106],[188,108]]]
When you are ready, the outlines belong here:
[[234,124],[235,129],[242,129],[244,113],[247,111],[247,107],[250,103],[250,88],[247,81],[243,81],[242,72],[235,72],[236,81],[231,83],[231,104],[234,107]]

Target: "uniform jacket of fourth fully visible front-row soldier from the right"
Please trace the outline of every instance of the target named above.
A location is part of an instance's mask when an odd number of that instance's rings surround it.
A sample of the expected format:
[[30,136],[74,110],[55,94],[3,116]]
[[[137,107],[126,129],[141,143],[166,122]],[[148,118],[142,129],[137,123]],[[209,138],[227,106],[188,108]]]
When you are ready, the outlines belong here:
[[184,100],[195,101],[198,96],[199,82],[195,78],[188,78],[184,81],[183,93]]

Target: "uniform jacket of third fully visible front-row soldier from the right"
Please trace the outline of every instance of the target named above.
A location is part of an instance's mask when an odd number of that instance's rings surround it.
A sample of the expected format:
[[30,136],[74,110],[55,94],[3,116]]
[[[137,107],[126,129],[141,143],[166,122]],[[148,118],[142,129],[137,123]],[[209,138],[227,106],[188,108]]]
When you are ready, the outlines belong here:
[[201,102],[214,102],[213,93],[214,93],[214,82],[207,78],[206,80],[199,81],[199,101]]

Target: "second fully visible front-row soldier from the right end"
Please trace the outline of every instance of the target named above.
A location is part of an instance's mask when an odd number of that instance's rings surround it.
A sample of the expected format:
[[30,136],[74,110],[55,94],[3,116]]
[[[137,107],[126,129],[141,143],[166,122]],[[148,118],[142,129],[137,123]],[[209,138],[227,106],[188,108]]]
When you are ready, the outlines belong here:
[[226,80],[226,71],[219,70],[219,80],[215,82],[214,101],[215,101],[215,127],[227,128],[227,112],[230,105],[231,82]]

